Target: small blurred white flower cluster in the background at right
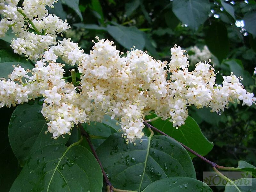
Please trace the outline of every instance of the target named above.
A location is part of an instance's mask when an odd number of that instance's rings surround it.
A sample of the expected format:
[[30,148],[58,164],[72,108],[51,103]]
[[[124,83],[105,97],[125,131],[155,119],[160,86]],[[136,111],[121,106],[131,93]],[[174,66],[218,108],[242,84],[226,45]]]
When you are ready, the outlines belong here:
[[202,50],[200,50],[197,46],[193,46],[189,49],[189,52],[193,52],[193,54],[189,54],[190,63],[198,63],[204,60],[207,61],[212,58],[212,54],[206,45],[204,45]]

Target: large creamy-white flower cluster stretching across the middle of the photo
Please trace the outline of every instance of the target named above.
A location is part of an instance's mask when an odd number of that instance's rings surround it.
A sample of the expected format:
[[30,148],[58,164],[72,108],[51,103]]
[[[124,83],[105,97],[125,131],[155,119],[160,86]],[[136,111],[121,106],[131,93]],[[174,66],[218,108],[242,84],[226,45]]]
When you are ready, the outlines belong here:
[[[8,6],[16,5],[16,1],[13,2],[9,0]],[[52,1],[46,0],[31,1],[29,5],[28,1],[24,2],[27,3],[24,7],[35,6],[35,2],[38,6],[42,2],[52,6]],[[24,12],[30,14],[31,18],[38,14],[28,12],[24,7]],[[40,17],[49,16],[45,14],[46,10],[40,13]],[[35,23],[37,21],[39,20]],[[9,21],[4,20],[4,25],[6,22]],[[40,22],[46,21],[43,19]],[[40,22],[36,25],[44,30],[39,25],[46,25],[47,22]],[[2,26],[0,28],[6,29]],[[50,31],[48,35],[51,37],[54,31],[59,32],[58,28]],[[19,35],[18,32],[17,34]],[[119,120],[123,137],[127,143],[132,143],[144,135],[143,118],[150,111],[164,120],[169,119],[178,128],[185,123],[188,105],[210,107],[212,112],[219,112],[228,108],[229,102],[236,100],[248,106],[255,103],[253,93],[246,92],[240,83],[241,77],[231,73],[230,76],[223,76],[222,86],[216,86],[214,68],[206,62],[198,62],[195,70],[189,72],[188,55],[176,45],[171,49],[171,61],[168,63],[155,60],[146,51],[137,49],[131,49],[126,56],[122,56],[123,53],[116,50],[113,42],[96,38],[98,42],[93,41],[95,45],[90,54],[85,54],[78,44],[68,38],[51,46],[49,44],[43,54],[37,53],[38,58],[42,59],[36,62],[32,71],[25,71],[22,66],[15,67],[10,79],[0,80],[0,107],[15,106],[43,96],[45,99],[41,112],[53,138],[71,134],[70,130],[79,122],[101,122],[107,114],[112,119]],[[29,43],[31,47],[40,46],[38,41]],[[27,52],[31,50],[25,48]],[[64,64],[56,63],[59,57],[67,64],[78,66],[82,74],[79,87],[65,82]],[[34,56],[29,58],[36,59]]]

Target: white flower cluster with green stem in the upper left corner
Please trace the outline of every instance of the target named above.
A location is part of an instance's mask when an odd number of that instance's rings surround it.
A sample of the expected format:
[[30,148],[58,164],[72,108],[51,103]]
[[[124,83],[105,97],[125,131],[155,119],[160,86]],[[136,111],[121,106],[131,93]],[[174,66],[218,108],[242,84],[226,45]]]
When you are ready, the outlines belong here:
[[[70,28],[67,20],[48,14],[46,5],[52,7],[55,0],[24,0],[23,7],[17,7],[19,0],[0,0],[0,37],[9,28],[15,33],[11,47],[15,53],[25,54],[30,60],[38,60],[45,49],[57,44],[56,34]],[[29,29],[35,29],[30,32]]]

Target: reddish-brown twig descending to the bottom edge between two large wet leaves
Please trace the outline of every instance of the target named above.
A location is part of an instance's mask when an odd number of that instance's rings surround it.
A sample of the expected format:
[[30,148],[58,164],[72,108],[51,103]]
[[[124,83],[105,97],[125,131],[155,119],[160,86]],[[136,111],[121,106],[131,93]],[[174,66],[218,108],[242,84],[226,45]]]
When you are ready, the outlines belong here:
[[[91,142],[91,140],[90,140],[89,134],[84,130],[84,127],[82,126],[81,123],[78,123],[78,127],[79,127],[79,129],[80,129],[82,135],[84,135],[84,137],[86,138],[86,140],[87,140],[87,142],[88,142],[88,144],[89,144],[89,146],[90,146],[90,148],[91,148],[91,150],[92,150],[92,154],[94,155],[94,157],[96,158],[96,160],[98,161],[98,163],[99,163],[99,165],[100,165],[100,168],[101,168],[103,177],[104,177],[104,179],[105,179],[105,182],[107,183],[107,189],[108,189],[108,191],[113,192],[113,188],[112,188],[111,182],[108,180],[107,173],[105,172],[105,170],[104,170],[104,168],[103,168],[103,166],[102,166],[102,164],[101,164],[101,162],[100,162],[100,159],[99,159],[99,157],[98,157],[98,155],[97,155],[95,149],[94,149],[93,146],[92,146],[92,142]],[[109,186],[109,187],[108,187],[108,186]]]

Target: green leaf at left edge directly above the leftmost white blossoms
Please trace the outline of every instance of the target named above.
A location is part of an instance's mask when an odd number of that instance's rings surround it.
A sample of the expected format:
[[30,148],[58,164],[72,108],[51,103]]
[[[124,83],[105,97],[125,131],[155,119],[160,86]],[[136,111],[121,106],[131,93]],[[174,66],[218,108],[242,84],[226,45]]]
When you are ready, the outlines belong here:
[[12,73],[13,67],[12,65],[21,65],[25,70],[33,69],[34,66],[31,63],[20,63],[20,62],[5,62],[0,63],[0,77],[4,77],[6,80],[9,79],[8,75]]

